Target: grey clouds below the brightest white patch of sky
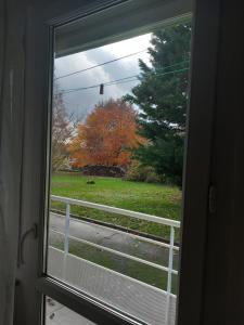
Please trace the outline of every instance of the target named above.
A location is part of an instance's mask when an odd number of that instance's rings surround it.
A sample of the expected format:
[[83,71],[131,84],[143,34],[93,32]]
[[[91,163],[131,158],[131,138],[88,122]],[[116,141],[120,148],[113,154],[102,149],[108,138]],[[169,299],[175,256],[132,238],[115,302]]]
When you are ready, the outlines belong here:
[[[97,49],[82,54],[59,58],[55,62],[55,74],[56,76],[65,75],[116,57],[117,56],[112,52]],[[132,56],[130,60],[125,58],[78,75],[59,79],[59,88],[64,90],[89,87],[138,75],[139,73],[138,56]],[[74,112],[76,115],[85,117],[99,102],[106,101],[111,98],[121,98],[130,92],[131,88],[136,84],[137,81],[116,86],[105,86],[103,95],[99,94],[99,88],[77,91],[64,94],[64,102],[69,113]]]

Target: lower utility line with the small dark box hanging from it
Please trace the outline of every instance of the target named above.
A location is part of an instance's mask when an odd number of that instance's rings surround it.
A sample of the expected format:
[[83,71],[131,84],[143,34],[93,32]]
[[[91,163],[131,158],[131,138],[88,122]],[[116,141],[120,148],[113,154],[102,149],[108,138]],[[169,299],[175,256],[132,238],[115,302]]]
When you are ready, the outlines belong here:
[[[166,72],[166,73],[162,73],[162,74],[155,74],[156,76],[166,76],[169,74],[179,74],[179,73],[183,73],[185,70],[189,70],[189,67],[185,68],[181,68],[181,69],[176,69],[176,70],[170,70],[170,72]],[[98,84],[93,84],[93,86],[89,86],[89,87],[82,87],[82,88],[74,88],[74,89],[67,89],[67,90],[61,90],[60,92],[62,94],[66,94],[66,93],[72,93],[72,92],[76,92],[76,91],[82,91],[82,90],[88,90],[88,89],[93,89],[93,88],[99,88],[101,84],[103,86],[115,86],[118,83],[126,83],[126,82],[132,82],[132,81],[137,81],[139,80],[140,75],[134,75],[134,76],[130,76],[130,77],[125,77],[125,78],[120,78],[120,79],[116,79],[116,80],[112,80],[110,82],[101,82]]]

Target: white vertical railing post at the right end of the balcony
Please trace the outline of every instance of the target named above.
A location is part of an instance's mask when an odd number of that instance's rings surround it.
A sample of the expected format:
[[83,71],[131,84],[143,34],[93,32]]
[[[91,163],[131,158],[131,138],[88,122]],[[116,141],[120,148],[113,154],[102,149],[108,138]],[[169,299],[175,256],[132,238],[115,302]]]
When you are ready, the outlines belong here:
[[169,310],[170,310],[170,294],[172,288],[172,260],[174,260],[174,244],[175,244],[175,229],[170,226],[170,243],[168,252],[168,280],[167,280],[167,297],[166,297],[166,322],[169,325]]

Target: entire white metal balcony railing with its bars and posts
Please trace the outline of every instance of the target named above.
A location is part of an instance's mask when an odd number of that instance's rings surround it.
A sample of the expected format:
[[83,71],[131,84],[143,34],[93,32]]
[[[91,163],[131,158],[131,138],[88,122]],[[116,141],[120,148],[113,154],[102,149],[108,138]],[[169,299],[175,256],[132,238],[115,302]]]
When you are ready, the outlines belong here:
[[[156,268],[156,269],[159,269],[162,271],[167,272],[168,276],[167,276],[166,324],[168,324],[167,320],[168,320],[169,307],[170,307],[170,303],[169,303],[170,300],[169,299],[170,299],[170,296],[172,295],[172,292],[171,292],[172,274],[176,274],[176,275],[178,274],[178,271],[174,270],[174,251],[179,250],[179,247],[175,245],[175,229],[180,227],[180,222],[176,221],[176,220],[170,220],[170,219],[167,219],[167,218],[160,218],[160,217],[156,217],[156,216],[151,216],[151,214],[146,214],[146,213],[119,209],[119,208],[115,208],[115,207],[111,207],[111,206],[105,206],[105,205],[100,205],[100,204],[86,202],[86,200],[73,199],[73,198],[68,198],[68,197],[61,197],[61,196],[51,195],[51,200],[52,202],[64,203],[66,205],[64,233],[51,230],[54,233],[64,235],[64,253],[65,255],[67,255],[68,250],[69,250],[69,239],[74,239],[74,240],[77,240],[79,243],[90,245],[94,248],[99,248],[99,249],[102,249],[104,251],[112,252],[114,255],[124,257],[126,259],[130,259],[130,260],[133,260],[136,262],[140,262],[140,263],[146,264],[149,266],[153,266],[153,268]],[[81,206],[81,207],[97,209],[97,210],[101,210],[101,211],[106,211],[106,212],[110,212],[110,213],[116,213],[116,214],[125,216],[125,217],[129,217],[129,218],[146,220],[146,221],[151,221],[151,222],[155,222],[155,223],[158,223],[158,224],[164,224],[164,225],[169,226],[170,227],[169,244],[158,242],[158,240],[154,240],[154,239],[149,239],[149,238],[145,238],[145,237],[140,237],[143,240],[147,240],[150,243],[154,243],[155,245],[159,245],[159,246],[168,248],[168,251],[169,251],[169,253],[168,253],[168,265],[164,266],[164,265],[160,265],[158,263],[151,262],[151,261],[131,256],[129,253],[125,253],[125,252],[121,252],[121,251],[118,251],[118,250],[115,250],[115,249],[112,249],[112,248],[108,248],[108,247],[104,247],[102,245],[99,245],[99,244],[95,244],[95,243],[85,240],[85,239],[81,239],[81,238],[74,237],[74,236],[69,235],[70,206]],[[133,235],[133,236],[139,237],[139,235]]]

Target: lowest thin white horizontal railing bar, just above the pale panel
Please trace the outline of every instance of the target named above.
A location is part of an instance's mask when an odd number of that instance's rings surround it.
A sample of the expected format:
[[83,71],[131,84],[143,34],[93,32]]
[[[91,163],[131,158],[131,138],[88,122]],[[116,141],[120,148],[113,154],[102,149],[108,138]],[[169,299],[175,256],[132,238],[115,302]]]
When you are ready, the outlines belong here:
[[[64,236],[64,233],[62,233],[62,232],[59,232],[59,231],[55,231],[55,230],[52,230],[52,229],[50,229],[50,231],[52,231],[53,233],[56,233],[56,234],[60,234],[60,235]],[[121,251],[118,251],[118,250],[114,250],[114,249],[108,248],[108,247],[104,247],[104,246],[101,246],[101,245],[88,242],[86,239],[77,238],[77,237],[74,237],[74,236],[70,236],[70,235],[68,236],[68,238],[70,238],[73,240],[77,240],[77,242],[84,243],[84,244],[87,244],[89,246],[92,246],[92,247],[95,247],[95,248],[99,248],[99,249],[102,249],[102,250],[105,250],[105,251],[108,251],[108,252],[112,252],[112,253],[115,253],[115,255],[120,256],[120,257],[125,257],[125,258],[133,260],[136,262],[140,262],[140,263],[146,264],[149,266],[153,266],[155,269],[159,269],[159,270],[165,271],[165,272],[169,271],[169,269],[166,268],[166,266],[163,266],[163,265],[159,265],[159,264],[156,264],[156,263],[143,260],[141,258],[133,257],[131,255],[128,255],[128,253],[125,253],[125,252],[121,252]],[[178,271],[176,271],[176,270],[172,270],[171,272],[174,274],[178,274]]]

